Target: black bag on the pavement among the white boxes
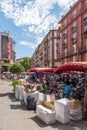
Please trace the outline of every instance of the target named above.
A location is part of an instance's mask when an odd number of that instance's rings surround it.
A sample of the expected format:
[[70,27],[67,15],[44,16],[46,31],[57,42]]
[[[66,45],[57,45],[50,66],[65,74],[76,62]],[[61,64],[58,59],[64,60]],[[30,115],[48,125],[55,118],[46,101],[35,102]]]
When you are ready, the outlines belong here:
[[34,97],[28,96],[27,97],[27,109],[36,110],[36,99]]

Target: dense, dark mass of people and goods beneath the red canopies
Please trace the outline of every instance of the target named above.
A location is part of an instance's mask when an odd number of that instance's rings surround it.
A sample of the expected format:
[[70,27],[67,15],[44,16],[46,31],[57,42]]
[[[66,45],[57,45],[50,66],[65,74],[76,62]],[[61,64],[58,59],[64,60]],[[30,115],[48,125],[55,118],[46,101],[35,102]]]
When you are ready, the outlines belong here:
[[41,92],[55,94],[56,99],[63,97],[82,100],[85,89],[84,73],[39,74],[35,72],[29,82],[42,83]]

